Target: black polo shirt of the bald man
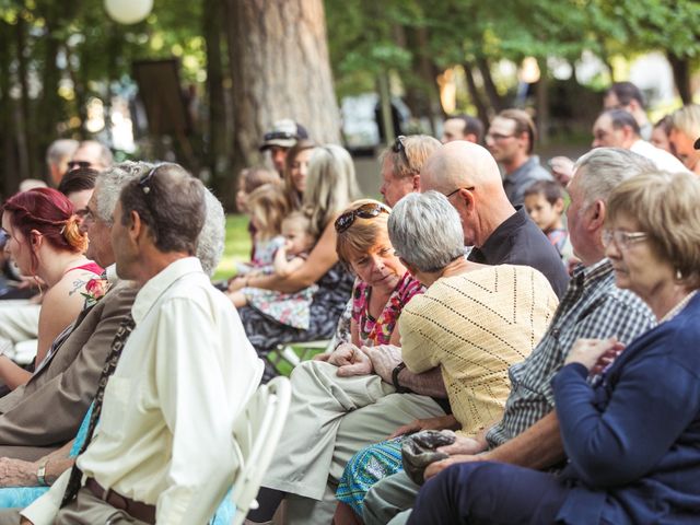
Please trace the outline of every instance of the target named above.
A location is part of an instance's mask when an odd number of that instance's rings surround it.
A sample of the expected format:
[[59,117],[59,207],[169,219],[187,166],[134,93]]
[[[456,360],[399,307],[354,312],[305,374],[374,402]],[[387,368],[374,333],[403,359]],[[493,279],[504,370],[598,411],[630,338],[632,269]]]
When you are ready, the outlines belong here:
[[557,248],[522,206],[495,229],[483,246],[475,246],[468,259],[483,265],[532,266],[545,275],[560,299],[569,283]]

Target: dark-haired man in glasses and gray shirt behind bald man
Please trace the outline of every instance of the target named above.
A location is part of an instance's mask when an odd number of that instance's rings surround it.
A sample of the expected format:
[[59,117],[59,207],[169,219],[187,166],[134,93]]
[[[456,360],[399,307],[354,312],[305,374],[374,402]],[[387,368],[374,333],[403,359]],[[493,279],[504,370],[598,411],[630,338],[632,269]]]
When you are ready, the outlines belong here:
[[503,170],[503,188],[513,206],[525,200],[525,190],[537,180],[553,180],[533,155],[537,131],[522,109],[504,109],[491,121],[486,145]]

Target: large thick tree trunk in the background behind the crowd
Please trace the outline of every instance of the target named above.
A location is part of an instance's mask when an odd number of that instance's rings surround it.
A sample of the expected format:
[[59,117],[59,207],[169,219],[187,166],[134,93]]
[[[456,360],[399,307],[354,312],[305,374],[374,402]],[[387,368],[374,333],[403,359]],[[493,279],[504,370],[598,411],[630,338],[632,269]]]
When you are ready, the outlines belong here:
[[323,1],[226,0],[226,8],[234,167],[259,162],[261,137],[281,118],[318,142],[338,142]]

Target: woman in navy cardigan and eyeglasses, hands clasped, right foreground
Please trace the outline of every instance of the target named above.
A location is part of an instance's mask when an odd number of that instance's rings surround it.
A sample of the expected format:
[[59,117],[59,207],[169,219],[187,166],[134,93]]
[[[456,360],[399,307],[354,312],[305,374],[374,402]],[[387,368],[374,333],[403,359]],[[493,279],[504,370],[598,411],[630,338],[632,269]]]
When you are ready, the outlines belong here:
[[627,348],[574,345],[552,382],[563,471],[455,465],[422,488],[408,523],[698,523],[699,201],[689,173],[638,175],[610,195],[603,242],[616,283],[658,324]]

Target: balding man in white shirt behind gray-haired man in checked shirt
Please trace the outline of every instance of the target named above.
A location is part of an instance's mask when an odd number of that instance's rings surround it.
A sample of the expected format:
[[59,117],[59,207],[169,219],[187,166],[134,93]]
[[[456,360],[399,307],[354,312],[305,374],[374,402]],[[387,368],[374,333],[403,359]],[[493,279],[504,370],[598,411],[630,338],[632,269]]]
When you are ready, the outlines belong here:
[[642,155],[654,163],[658,170],[677,173],[686,166],[661,148],[642,140],[634,117],[625,109],[609,109],[600,114],[593,125],[593,148],[622,148]]

